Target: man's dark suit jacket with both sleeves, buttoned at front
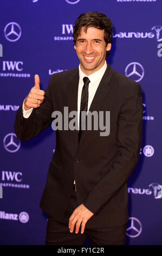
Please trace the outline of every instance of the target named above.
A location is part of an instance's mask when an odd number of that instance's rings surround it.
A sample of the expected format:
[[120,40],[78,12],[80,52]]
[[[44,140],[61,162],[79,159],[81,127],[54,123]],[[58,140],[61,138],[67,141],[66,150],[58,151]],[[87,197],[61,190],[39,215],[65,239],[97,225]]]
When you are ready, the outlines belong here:
[[[40,108],[28,119],[23,118],[22,105],[18,109],[17,137],[23,141],[35,137],[54,120],[51,113],[63,113],[64,106],[69,112],[77,111],[78,84],[78,68],[51,76]],[[56,148],[40,206],[61,221],[75,179],[78,203],[94,213],[86,227],[121,225],[128,221],[126,181],[141,147],[141,87],[107,64],[89,111],[110,111],[109,136],[100,136],[100,130],[86,130],[78,143],[77,130],[56,131]]]

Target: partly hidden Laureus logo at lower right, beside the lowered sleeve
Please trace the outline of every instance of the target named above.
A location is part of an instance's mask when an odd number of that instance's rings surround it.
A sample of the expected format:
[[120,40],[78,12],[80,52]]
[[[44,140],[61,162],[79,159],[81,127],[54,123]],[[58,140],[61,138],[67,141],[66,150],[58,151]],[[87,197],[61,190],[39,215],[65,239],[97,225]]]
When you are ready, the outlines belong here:
[[128,187],[128,193],[146,194],[148,196],[153,194],[154,199],[161,199],[162,198],[162,185],[153,182],[150,185],[148,185],[148,187],[150,187],[150,188]]

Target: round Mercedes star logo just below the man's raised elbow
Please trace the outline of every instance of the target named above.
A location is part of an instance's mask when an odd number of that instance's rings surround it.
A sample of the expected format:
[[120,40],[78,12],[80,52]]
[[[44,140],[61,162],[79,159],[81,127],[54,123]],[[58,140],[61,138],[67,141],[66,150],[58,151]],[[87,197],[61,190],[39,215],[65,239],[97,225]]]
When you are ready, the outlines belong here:
[[10,153],[15,153],[18,149],[20,149],[21,142],[16,137],[15,133],[8,133],[3,139],[3,144],[5,150]]

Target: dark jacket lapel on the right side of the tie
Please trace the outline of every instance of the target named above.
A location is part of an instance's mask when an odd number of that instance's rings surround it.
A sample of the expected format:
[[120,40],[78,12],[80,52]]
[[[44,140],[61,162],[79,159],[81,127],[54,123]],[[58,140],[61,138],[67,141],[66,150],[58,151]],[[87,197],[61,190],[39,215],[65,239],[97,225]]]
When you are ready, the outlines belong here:
[[[113,69],[107,63],[107,69],[105,71],[105,74],[103,75],[103,77],[101,79],[98,89],[96,90],[96,93],[94,95],[93,101],[90,105],[90,108],[89,108],[90,112],[99,110],[99,106],[100,106],[101,102],[103,101],[103,99],[106,97],[106,95],[109,92],[109,89],[110,89],[109,81],[111,80],[112,75],[113,75]],[[79,148],[86,137],[86,133],[87,133],[87,130],[82,131],[82,135],[81,135],[80,142],[79,142]]]

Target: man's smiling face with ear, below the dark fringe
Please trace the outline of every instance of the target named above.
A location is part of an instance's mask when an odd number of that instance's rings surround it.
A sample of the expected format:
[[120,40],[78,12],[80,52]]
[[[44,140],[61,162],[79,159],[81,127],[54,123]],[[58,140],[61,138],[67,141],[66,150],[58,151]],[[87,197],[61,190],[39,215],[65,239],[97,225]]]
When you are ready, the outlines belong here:
[[74,46],[80,67],[87,76],[102,68],[105,63],[106,51],[111,50],[111,44],[106,46],[104,30],[89,27],[85,33],[84,27]]

